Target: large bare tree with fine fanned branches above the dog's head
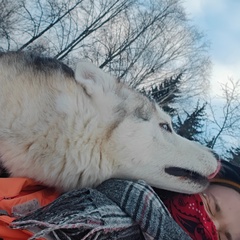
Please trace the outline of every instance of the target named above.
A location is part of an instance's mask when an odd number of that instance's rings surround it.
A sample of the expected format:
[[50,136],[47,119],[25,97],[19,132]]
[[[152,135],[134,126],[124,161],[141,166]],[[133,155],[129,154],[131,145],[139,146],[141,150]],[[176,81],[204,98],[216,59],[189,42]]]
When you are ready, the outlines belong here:
[[182,91],[189,98],[208,86],[207,49],[179,1],[150,0],[111,19],[86,39],[79,55],[135,88],[182,74]]

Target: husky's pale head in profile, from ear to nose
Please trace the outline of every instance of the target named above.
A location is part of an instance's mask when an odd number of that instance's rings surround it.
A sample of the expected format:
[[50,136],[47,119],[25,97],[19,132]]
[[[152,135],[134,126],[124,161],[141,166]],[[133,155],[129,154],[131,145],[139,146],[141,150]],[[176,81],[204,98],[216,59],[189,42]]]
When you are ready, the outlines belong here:
[[177,135],[171,118],[154,102],[91,63],[80,63],[75,78],[106,122],[101,156],[111,177],[143,179],[183,193],[207,187],[217,160],[207,148]]

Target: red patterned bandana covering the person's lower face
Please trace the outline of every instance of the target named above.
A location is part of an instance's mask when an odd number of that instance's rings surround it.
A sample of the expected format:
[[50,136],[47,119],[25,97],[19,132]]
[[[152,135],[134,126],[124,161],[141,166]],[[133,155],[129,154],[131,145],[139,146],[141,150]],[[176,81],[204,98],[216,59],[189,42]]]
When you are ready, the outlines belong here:
[[216,227],[199,194],[177,194],[163,201],[173,219],[193,240],[218,240]]

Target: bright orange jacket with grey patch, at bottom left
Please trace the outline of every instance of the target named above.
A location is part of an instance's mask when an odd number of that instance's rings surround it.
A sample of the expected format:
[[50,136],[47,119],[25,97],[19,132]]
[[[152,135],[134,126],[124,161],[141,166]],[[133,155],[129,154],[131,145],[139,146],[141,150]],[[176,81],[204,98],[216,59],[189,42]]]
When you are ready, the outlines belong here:
[[0,239],[26,240],[29,230],[11,229],[18,216],[30,213],[54,201],[59,193],[28,178],[0,178]]

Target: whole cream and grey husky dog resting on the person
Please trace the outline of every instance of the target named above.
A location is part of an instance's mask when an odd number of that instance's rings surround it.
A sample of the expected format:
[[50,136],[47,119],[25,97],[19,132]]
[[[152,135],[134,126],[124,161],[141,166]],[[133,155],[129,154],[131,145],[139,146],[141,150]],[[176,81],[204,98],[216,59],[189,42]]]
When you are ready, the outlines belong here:
[[0,54],[0,161],[11,176],[67,191],[108,178],[202,191],[218,162],[177,135],[147,97],[90,62]]

